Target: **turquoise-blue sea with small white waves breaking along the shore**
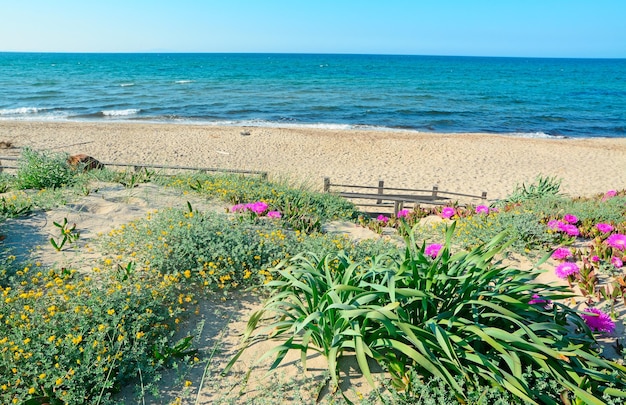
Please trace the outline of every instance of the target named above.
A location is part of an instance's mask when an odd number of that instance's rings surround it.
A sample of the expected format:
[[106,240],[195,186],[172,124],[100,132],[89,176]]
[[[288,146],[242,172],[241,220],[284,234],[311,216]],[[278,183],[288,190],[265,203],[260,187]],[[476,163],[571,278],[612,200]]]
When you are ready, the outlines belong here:
[[626,137],[626,59],[0,53],[0,120]]

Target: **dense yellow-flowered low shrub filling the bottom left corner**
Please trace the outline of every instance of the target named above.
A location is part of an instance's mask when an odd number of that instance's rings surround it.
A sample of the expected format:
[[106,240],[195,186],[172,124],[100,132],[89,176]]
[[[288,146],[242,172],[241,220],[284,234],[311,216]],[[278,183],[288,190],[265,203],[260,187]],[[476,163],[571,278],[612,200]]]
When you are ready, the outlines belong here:
[[94,272],[25,267],[5,280],[0,403],[112,403],[183,354],[173,336],[190,295],[155,272]]

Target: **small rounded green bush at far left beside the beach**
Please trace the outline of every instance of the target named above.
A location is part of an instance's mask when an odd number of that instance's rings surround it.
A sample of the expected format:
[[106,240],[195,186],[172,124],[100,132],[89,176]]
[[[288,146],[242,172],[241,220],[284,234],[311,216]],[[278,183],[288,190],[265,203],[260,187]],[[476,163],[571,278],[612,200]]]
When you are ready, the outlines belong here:
[[67,163],[67,155],[49,151],[22,149],[18,162],[16,187],[19,189],[59,188],[71,185],[74,171]]

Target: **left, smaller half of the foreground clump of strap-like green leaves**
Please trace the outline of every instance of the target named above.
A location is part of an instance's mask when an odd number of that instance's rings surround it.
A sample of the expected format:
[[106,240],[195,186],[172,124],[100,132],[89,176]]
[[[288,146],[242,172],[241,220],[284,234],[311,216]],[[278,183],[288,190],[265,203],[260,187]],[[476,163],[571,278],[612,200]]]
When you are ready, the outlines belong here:
[[[244,347],[235,356],[225,372],[239,358],[254,339],[248,341],[266,313],[277,316],[275,322],[260,334],[271,338],[285,337],[286,341],[268,351],[265,357],[276,355],[271,369],[277,367],[289,350],[302,353],[302,365],[306,369],[308,351],[319,352],[328,361],[333,384],[338,385],[337,360],[346,349],[357,350],[359,364],[364,360],[360,349],[363,337],[358,323],[343,315],[346,309],[368,304],[375,298],[361,286],[364,270],[358,263],[350,263],[343,254],[328,255],[318,259],[315,255],[300,254],[290,264],[277,267],[277,280],[268,283],[272,296],[263,308],[255,312],[244,335]],[[381,309],[385,310],[385,309]],[[371,375],[366,373],[371,380]],[[373,383],[373,381],[372,381]]]

